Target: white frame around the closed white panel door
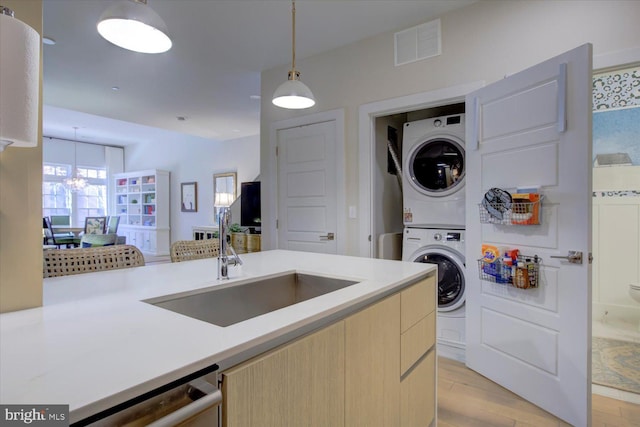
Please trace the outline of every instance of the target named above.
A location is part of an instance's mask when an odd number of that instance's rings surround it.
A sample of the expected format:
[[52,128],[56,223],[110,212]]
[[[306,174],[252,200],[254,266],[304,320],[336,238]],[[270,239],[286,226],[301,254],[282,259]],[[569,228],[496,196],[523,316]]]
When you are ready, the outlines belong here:
[[[271,123],[269,129],[269,174],[267,182],[264,184],[268,187],[266,194],[274,195],[273,201],[267,203],[269,218],[277,220],[278,218],[278,157],[276,155],[276,147],[278,146],[278,131],[290,129],[300,126],[308,126],[323,122],[335,122],[335,140],[336,140],[336,253],[338,255],[346,254],[347,247],[347,213],[346,213],[346,189],[345,189],[345,110],[337,108],[335,110],[323,111],[320,113],[308,114],[305,116],[294,117],[291,119],[279,120]],[[264,206],[264,202],[263,202]],[[273,249],[278,248],[278,230],[275,223],[270,227],[273,231],[269,242],[265,242],[265,246]]]

